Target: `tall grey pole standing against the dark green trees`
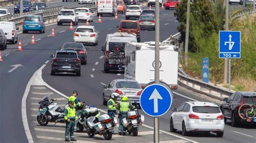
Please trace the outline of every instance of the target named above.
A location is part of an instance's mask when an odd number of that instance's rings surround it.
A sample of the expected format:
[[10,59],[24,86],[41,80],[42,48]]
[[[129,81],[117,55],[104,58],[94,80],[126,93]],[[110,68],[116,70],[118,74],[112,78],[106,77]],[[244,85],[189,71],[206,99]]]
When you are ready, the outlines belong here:
[[186,37],[185,37],[185,65],[187,65],[188,37],[190,32],[190,0],[187,0]]

